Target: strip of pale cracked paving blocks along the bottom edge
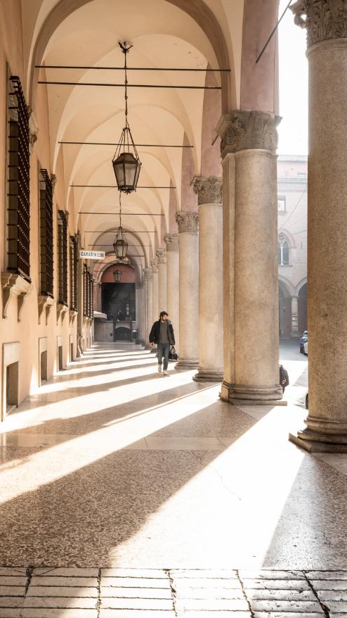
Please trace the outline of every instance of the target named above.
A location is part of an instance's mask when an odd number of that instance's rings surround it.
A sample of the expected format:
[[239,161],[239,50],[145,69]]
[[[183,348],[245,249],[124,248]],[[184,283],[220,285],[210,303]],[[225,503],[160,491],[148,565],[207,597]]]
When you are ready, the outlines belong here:
[[0,618],[347,617],[347,571],[1,568]]

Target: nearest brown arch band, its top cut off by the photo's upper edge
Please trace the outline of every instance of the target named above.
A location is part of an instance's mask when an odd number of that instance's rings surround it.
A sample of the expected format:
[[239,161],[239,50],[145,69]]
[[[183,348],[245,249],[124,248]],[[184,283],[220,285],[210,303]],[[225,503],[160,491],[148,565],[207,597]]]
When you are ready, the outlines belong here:
[[[37,38],[32,46],[30,54],[30,66],[28,68],[28,101],[33,106],[33,101],[36,96],[37,84],[34,80],[35,65],[41,63],[46,46],[55,29],[63,22],[71,13],[77,11],[78,8],[88,4],[92,0],[59,0],[57,4],[48,13],[44,23],[41,25]],[[216,55],[216,60],[220,68],[230,68],[231,72],[221,73],[222,87],[222,110],[227,113],[230,109],[235,108],[236,87],[235,87],[235,71],[233,67],[232,52],[228,53],[228,47],[225,42],[225,37],[221,25],[218,23],[216,16],[211,9],[204,3],[203,0],[163,0],[169,4],[173,4],[181,9],[184,13],[197,23],[207,37]],[[231,58],[230,58],[231,55]]]

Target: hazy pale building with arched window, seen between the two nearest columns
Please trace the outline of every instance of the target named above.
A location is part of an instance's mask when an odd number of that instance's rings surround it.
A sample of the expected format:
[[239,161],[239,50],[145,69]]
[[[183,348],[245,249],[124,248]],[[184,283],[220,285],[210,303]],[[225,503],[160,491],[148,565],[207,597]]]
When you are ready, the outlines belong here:
[[277,161],[278,287],[280,336],[307,327],[307,157]]

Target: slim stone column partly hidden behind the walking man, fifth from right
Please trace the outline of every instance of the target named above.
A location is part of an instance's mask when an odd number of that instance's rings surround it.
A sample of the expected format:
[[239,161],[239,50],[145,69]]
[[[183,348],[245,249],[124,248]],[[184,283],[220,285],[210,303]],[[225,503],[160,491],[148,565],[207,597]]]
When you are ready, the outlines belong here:
[[164,234],[166,244],[166,311],[169,313],[175,333],[175,348],[180,349],[179,297],[180,297],[180,256],[178,253],[178,234]]

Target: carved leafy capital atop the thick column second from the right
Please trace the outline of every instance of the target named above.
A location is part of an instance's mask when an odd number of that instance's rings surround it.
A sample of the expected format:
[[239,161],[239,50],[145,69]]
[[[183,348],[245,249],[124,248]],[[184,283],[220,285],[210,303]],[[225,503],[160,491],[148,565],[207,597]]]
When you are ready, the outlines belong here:
[[221,116],[216,132],[221,136],[221,156],[240,150],[262,149],[275,153],[280,116],[271,112],[235,110]]

